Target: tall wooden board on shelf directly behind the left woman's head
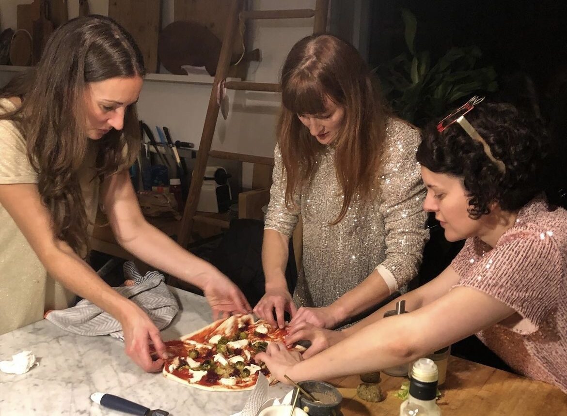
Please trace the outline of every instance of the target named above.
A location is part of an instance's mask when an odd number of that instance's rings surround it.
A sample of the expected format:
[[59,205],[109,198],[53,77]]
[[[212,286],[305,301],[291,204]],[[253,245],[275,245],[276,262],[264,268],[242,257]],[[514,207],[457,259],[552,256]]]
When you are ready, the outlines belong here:
[[120,23],[142,51],[146,71],[158,71],[160,2],[156,0],[110,0],[108,16]]

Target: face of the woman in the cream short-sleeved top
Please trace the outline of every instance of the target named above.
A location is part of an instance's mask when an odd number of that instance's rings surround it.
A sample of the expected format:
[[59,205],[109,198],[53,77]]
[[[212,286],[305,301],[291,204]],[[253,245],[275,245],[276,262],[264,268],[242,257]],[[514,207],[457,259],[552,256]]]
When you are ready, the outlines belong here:
[[98,140],[111,129],[122,130],[126,107],[138,101],[141,89],[141,77],[88,83],[84,94],[87,137]]

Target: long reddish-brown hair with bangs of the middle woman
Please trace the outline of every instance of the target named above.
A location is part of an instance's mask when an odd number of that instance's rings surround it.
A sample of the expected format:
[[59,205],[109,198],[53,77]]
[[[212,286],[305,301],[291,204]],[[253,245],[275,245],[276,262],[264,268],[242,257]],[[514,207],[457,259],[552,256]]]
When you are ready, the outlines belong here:
[[336,147],[335,169],[344,199],[332,224],[344,218],[356,194],[371,201],[379,188],[380,158],[389,114],[379,95],[378,81],[354,46],[332,35],[312,35],[298,41],[287,55],[281,75],[282,108],[278,145],[287,186],[286,205],[306,185],[324,149],[298,119],[298,114],[322,114],[325,97],[344,108]]

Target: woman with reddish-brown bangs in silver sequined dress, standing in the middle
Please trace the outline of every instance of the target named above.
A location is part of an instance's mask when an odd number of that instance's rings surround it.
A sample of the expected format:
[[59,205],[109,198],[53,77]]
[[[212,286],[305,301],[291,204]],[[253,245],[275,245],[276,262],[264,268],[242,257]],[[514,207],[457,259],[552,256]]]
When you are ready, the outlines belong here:
[[[291,326],[334,328],[417,274],[428,236],[419,134],[388,113],[362,57],[334,36],[295,44],[281,86],[262,249],[266,292],[254,311],[280,327],[288,311]],[[292,297],[285,265],[299,214],[303,262]]]

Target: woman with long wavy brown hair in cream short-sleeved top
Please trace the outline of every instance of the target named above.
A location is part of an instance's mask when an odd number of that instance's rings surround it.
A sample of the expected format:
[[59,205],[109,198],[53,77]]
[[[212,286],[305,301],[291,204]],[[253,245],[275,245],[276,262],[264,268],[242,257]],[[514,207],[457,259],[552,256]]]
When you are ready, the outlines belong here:
[[58,28],[37,66],[0,91],[0,333],[78,294],[120,321],[126,353],[152,371],[163,360],[152,361],[149,343],[165,354],[159,330],[83,260],[99,199],[122,247],[202,288],[215,315],[249,305],[225,275],[141,214],[128,167],[140,146],[144,75],[132,36],[88,16]]

